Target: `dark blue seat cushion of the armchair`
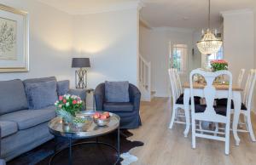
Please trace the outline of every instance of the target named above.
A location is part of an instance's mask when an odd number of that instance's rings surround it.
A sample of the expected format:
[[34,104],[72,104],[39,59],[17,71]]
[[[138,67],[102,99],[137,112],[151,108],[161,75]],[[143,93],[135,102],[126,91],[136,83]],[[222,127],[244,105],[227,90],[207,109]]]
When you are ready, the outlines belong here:
[[130,102],[126,103],[104,103],[103,104],[104,111],[119,111],[119,112],[129,112],[133,111],[133,105]]

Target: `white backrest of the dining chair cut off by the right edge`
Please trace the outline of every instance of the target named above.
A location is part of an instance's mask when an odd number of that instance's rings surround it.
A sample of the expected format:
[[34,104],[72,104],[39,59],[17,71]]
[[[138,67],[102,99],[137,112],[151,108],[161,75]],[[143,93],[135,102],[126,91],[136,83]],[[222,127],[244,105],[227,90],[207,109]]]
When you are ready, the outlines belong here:
[[253,99],[253,89],[255,86],[255,80],[256,80],[256,70],[252,69],[248,71],[247,76],[247,83],[244,89],[244,97],[243,97],[243,103],[247,106],[247,110],[251,110],[251,103]]

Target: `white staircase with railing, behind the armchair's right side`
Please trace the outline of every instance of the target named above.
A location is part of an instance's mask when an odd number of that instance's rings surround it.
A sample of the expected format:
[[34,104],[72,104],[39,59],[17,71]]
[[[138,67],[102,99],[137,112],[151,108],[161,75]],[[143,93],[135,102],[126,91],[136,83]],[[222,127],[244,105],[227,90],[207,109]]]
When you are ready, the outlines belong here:
[[142,93],[143,101],[151,101],[153,94],[151,92],[151,62],[148,62],[139,55],[139,88]]

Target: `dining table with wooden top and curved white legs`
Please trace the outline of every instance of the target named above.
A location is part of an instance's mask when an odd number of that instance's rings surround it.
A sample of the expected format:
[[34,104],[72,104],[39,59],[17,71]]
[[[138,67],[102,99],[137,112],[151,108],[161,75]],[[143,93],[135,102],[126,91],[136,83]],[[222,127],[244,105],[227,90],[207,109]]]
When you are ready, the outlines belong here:
[[[201,83],[194,83],[193,88],[195,95],[196,93],[202,93],[203,88],[205,87],[204,84]],[[225,84],[216,84],[214,85],[216,88],[218,95],[227,95],[229,85]],[[190,112],[189,112],[189,99],[190,99],[190,85],[189,83],[183,84],[184,88],[184,95],[183,95],[183,105],[185,111],[185,118],[186,118],[186,128],[183,132],[184,137],[188,137],[189,128],[190,128]],[[233,116],[233,123],[232,123],[232,131],[234,138],[236,140],[236,145],[239,145],[240,139],[237,134],[237,126],[239,122],[239,115],[241,111],[241,92],[242,88],[236,87],[236,85],[232,86],[232,100],[234,102],[234,116]]]

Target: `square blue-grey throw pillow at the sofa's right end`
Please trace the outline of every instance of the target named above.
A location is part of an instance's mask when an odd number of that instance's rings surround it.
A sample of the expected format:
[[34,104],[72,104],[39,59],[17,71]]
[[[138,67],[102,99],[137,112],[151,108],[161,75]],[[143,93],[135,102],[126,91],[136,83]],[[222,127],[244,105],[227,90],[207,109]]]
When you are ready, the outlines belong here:
[[56,82],[27,83],[26,96],[29,109],[38,110],[49,105],[54,105],[58,99]]

